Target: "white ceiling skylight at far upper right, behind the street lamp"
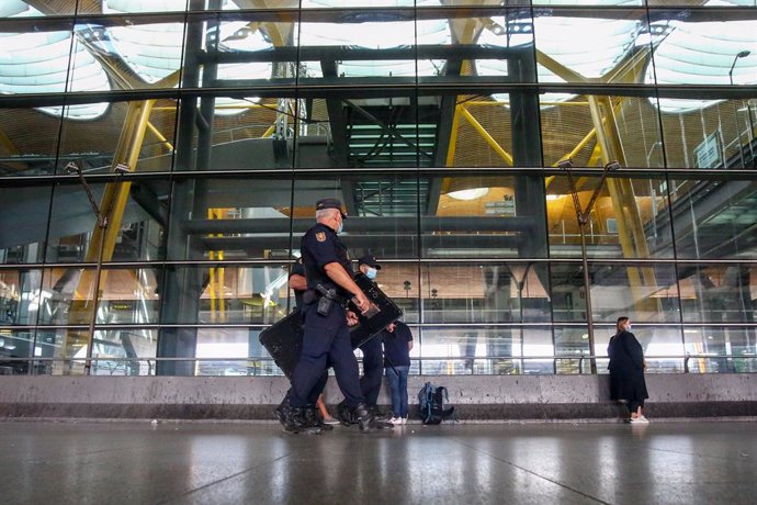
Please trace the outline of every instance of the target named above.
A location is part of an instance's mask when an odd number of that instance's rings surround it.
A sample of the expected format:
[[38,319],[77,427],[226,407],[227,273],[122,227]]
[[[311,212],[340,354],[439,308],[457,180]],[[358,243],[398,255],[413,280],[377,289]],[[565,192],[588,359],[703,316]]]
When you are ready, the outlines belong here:
[[[738,1],[710,0],[707,7],[733,7]],[[657,46],[654,66],[649,65],[645,82],[659,85],[734,85],[757,83],[757,21],[692,23],[670,21],[671,31]],[[737,58],[742,52],[749,55]],[[732,76],[728,75],[731,66]],[[664,112],[699,110],[722,100],[660,99]],[[656,101],[653,100],[656,104]]]

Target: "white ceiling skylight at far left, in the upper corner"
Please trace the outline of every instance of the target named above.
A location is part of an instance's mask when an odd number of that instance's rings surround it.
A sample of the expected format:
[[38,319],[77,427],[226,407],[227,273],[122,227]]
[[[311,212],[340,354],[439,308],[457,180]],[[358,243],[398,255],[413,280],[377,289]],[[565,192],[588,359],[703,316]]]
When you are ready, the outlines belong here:
[[[24,2],[3,0],[0,15],[31,18],[43,14]],[[69,31],[0,33],[0,93],[110,89],[105,70],[81,44],[74,44],[69,68],[70,52],[71,32]],[[53,115],[60,115],[63,109],[63,106],[37,108],[38,111]],[[106,110],[108,103],[68,105],[65,109],[65,117],[91,120],[102,115]]]

